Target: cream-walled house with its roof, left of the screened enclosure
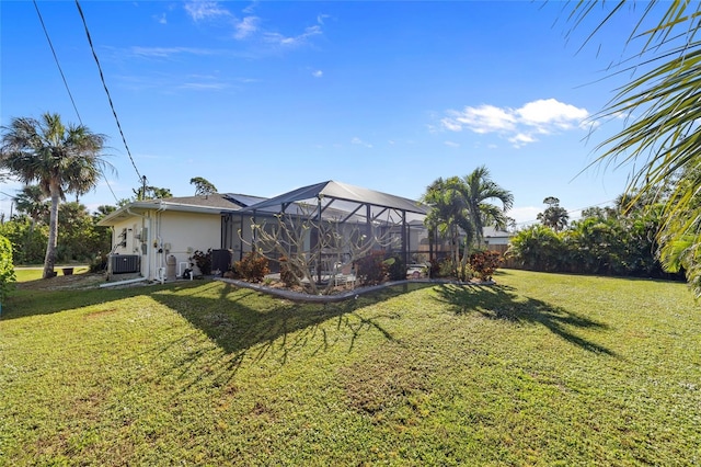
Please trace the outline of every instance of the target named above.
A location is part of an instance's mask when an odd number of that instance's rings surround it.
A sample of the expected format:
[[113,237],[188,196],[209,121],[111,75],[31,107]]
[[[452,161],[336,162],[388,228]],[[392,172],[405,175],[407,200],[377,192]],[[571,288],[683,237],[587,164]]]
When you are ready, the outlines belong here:
[[223,210],[263,200],[210,194],[129,203],[99,223],[113,228],[108,274],[140,273],[153,281],[165,278],[168,266],[174,263],[181,275],[195,251],[221,248]]

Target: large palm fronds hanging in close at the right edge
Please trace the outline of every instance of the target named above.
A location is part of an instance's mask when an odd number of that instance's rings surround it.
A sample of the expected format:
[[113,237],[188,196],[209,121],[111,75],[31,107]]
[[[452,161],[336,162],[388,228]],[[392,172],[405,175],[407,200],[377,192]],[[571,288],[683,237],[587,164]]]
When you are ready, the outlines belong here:
[[[630,1],[616,2],[613,9],[595,9],[591,2],[573,2],[565,15],[581,24],[585,16],[600,11],[604,19],[588,37],[604,29],[620,12],[640,11],[641,18],[630,34],[629,44],[639,41],[634,52],[636,62],[625,61],[627,70],[639,65],[641,76],[619,89],[611,103],[599,114],[601,118],[633,115],[625,128],[599,145],[598,161],[614,166],[630,162],[635,167],[629,186],[636,196],[657,195],[658,186],[674,182],[678,173],[685,178],[671,185],[670,195],[663,201],[659,240],[669,244],[666,266],[669,271],[683,266],[697,296],[701,296],[701,2],[652,1],[634,10]],[[658,20],[653,16],[658,15]],[[654,21],[648,26],[650,20]],[[644,26],[643,26],[644,25]],[[644,29],[643,29],[644,27]]]

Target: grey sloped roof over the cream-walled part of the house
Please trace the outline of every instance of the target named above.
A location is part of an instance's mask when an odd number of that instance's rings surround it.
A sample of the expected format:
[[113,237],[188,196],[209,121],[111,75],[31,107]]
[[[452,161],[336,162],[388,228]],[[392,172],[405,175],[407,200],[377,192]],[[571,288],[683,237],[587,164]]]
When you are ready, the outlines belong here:
[[[233,195],[235,196],[235,195]],[[261,198],[264,200],[264,198]],[[134,216],[135,212],[147,210],[175,210],[181,213],[210,213],[219,214],[222,210],[240,209],[241,206],[235,204],[234,201],[229,198],[229,195],[222,195],[219,193],[212,193],[206,196],[182,196],[182,197],[169,197],[164,200],[143,200],[135,201],[126,206],[123,206],[110,213],[102,218],[99,226],[111,226],[116,220],[125,219]]]

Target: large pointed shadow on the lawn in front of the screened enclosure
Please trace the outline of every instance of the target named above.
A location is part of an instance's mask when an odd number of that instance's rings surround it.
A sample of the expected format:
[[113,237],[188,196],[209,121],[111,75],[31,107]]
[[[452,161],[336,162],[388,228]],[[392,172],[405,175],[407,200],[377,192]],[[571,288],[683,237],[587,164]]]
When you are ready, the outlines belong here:
[[[195,328],[202,330],[219,349],[228,354],[227,371],[239,368],[244,358],[253,362],[264,357],[277,358],[281,364],[301,348],[312,346],[314,355],[334,345],[341,335],[350,331],[348,352],[363,332],[379,332],[388,341],[391,332],[380,323],[383,315],[360,315],[357,309],[390,299],[420,286],[394,286],[361,295],[345,301],[329,304],[292,303],[266,296],[256,291],[223,286],[218,296],[207,294],[211,283],[203,287],[180,287],[157,292],[153,299],[180,314]],[[423,287],[430,285],[422,285]],[[335,330],[327,326],[335,320]],[[346,328],[346,331],[342,331]],[[191,363],[200,355],[193,353]],[[187,365],[187,362],[184,362]]]

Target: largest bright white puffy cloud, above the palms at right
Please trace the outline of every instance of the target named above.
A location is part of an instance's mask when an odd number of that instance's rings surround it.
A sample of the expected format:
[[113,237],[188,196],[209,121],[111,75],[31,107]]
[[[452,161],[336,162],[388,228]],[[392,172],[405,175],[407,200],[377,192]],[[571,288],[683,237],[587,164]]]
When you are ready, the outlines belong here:
[[541,99],[526,103],[520,109],[481,105],[467,106],[462,111],[448,111],[440,121],[444,129],[476,134],[496,133],[515,147],[535,143],[535,135],[585,128],[590,116],[586,109],[562,103],[555,99]]

